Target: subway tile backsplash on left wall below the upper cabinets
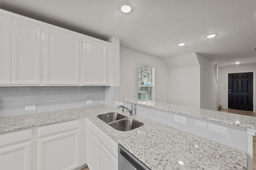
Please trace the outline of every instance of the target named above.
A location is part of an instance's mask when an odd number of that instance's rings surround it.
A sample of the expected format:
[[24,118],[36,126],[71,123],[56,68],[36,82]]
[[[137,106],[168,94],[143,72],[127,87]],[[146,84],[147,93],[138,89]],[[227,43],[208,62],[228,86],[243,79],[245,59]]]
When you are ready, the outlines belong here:
[[[86,104],[87,100],[93,103]],[[0,117],[12,117],[105,103],[105,87],[0,87]],[[25,111],[25,106],[36,110]]]

